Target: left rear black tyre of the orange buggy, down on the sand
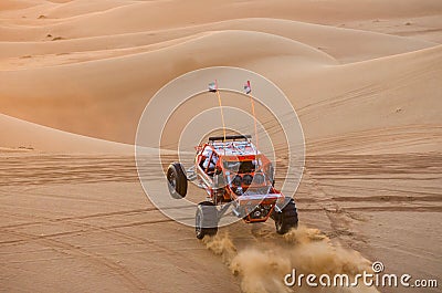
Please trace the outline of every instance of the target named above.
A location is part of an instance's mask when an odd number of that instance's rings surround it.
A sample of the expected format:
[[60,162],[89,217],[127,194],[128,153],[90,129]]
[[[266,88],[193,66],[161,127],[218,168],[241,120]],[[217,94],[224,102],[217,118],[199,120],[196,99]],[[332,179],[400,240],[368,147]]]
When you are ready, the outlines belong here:
[[198,239],[204,236],[214,236],[218,232],[218,210],[210,201],[198,203],[197,213],[194,216],[194,231]]

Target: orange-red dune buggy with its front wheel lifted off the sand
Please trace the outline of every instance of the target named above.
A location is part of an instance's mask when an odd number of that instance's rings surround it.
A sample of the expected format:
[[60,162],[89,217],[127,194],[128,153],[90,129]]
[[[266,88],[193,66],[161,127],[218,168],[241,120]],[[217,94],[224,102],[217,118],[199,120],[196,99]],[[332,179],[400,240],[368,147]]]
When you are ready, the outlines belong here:
[[274,188],[274,167],[250,135],[209,137],[196,149],[194,165],[186,170],[180,163],[170,164],[167,180],[176,199],[186,197],[188,181],[196,181],[208,193],[197,208],[198,239],[215,234],[229,210],[246,223],[272,218],[280,234],[297,227],[294,200]]

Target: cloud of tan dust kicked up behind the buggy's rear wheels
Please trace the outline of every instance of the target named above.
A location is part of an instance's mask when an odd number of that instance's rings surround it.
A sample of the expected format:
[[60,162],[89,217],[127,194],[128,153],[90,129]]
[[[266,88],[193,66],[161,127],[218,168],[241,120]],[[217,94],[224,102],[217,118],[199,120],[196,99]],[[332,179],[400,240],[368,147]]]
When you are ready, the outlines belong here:
[[[299,227],[285,236],[277,236],[265,229],[252,231],[253,238],[241,249],[233,231],[224,231],[215,237],[206,237],[203,243],[214,254],[220,255],[234,275],[241,279],[241,290],[245,293],[273,292],[378,292],[364,284],[358,287],[309,287],[304,283],[290,287],[284,276],[296,270],[296,275],[314,273],[348,274],[350,278],[367,271],[371,263],[359,252],[341,248],[317,229]],[[352,280],[352,278],[350,279]],[[317,282],[317,280],[316,280]]]

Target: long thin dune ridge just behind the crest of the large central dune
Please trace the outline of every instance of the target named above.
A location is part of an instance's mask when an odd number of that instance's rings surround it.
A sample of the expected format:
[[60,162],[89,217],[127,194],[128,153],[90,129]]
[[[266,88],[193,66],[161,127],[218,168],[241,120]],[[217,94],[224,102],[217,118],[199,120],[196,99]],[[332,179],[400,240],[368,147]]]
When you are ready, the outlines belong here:
[[[341,61],[357,61],[372,59],[389,54],[415,51],[435,43],[419,41],[411,38],[373,33],[361,30],[345,28],[333,28],[328,25],[305,23],[292,20],[278,19],[239,19],[204,24],[193,24],[186,28],[161,29],[148,32],[134,32],[112,35],[83,36],[80,39],[61,40],[59,42],[2,42],[4,50],[1,56],[22,56],[22,55],[43,55],[54,53],[88,52],[88,51],[114,51],[116,49],[139,48],[143,45],[157,44],[182,36],[189,36],[200,32],[221,31],[221,30],[246,30],[261,31],[295,41],[299,41],[319,50],[329,52]],[[48,36],[50,34],[50,36]],[[56,35],[48,29],[48,34],[43,40],[51,41]],[[341,40],[346,42],[341,42]],[[8,50],[13,48],[14,50]],[[148,50],[146,50],[148,51]],[[92,57],[92,60],[94,60]]]

